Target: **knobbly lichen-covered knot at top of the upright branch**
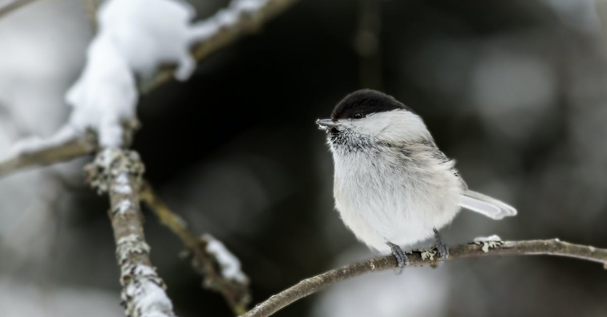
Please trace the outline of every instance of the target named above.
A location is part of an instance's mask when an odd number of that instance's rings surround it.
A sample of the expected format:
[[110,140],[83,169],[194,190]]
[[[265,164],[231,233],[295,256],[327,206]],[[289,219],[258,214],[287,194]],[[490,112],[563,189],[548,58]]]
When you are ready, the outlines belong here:
[[84,171],[90,186],[97,189],[98,194],[106,193],[110,188],[119,194],[131,194],[133,189],[128,176],[134,176],[134,185],[138,188],[145,167],[135,151],[106,148]]

